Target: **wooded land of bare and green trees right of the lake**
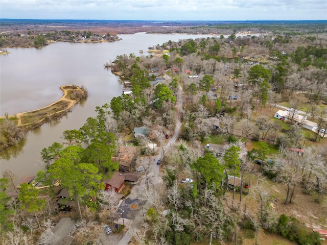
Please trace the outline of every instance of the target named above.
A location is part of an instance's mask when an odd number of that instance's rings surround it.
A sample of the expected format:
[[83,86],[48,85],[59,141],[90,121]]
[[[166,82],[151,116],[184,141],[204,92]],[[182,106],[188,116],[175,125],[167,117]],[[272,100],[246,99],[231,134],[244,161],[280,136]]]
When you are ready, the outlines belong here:
[[[129,230],[132,244],[267,244],[263,234],[321,244],[312,229],[327,229],[327,26],[227,26],[185,25],[218,35],[167,40],[148,56],[117,56],[111,70],[129,82],[131,94],[99,105],[83,127],[63,132],[63,144],[45,146],[46,170],[37,182],[51,187],[22,184],[18,192],[15,175],[5,172],[2,243],[54,239],[63,188],[77,203],[69,212],[77,222],[72,244],[98,242],[104,224],[114,227],[107,212],[113,191],[104,191],[104,180],[119,171],[112,157],[128,145],[137,149],[131,171],[143,168],[139,183],[124,193],[143,201],[141,223]],[[244,31],[248,35],[236,36]],[[287,121],[274,117],[281,106],[288,108]],[[312,130],[303,127],[307,119]],[[149,136],[134,137],[135,127],[148,128]],[[175,131],[178,141],[168,148],[165,135]],[[153,164],[157,155],[159,166]]]

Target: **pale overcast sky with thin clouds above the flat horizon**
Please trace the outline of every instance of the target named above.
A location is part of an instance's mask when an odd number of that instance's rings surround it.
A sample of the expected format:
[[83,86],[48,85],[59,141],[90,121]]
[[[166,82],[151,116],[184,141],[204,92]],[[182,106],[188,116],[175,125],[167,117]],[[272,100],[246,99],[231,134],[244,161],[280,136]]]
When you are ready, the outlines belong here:
[[0,0],[1,18],[326,20],[327,0]]

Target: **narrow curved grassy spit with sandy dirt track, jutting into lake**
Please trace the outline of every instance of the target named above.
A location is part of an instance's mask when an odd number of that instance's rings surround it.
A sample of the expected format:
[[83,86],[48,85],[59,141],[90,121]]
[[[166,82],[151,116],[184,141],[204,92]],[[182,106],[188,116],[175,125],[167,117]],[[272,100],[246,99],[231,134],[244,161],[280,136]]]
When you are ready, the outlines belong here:
[[[0,151],[13,145],[17,139],[24,137],[24,133],[29,130],[66,115],[76,103],[87,97],[87,90],[84,86],[65,85],[61,86],[60,89],[63,91],[62,97],[49,106],[15,115],[6,114],[0,117],[1,135],[6,138],[6,143],[2,141],[0,145]],[[15,130],[12,130],[13,127],[15,127]],[[16,133],[11,134],[9,132]]]

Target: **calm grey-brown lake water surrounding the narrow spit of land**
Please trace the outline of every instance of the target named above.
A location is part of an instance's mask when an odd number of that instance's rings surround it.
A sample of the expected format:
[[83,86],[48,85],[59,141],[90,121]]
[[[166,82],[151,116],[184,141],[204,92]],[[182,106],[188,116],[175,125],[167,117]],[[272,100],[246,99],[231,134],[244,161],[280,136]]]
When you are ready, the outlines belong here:
[[[150,55],[148,46],[169,40],[202,38],[208,35],[163,35],[137,33],[119,35],[122,40],[106,43],[57,42],[41,49],[7,48],[0,55],[0,114],[13,115],[47,106],[62,96],[61,85],[84,85],[88,99],[76,105],[58,121],[27,133],[17,145],[1,152],[0,170],[10,169],[18,180],[43,169],[40,152],[54,142],[63,142],[62,132],[79,129],[88,117],[96,116],[96,106],[110,103],[122,94],[119,78],[104,69],[118,55]],[[209,36],[212,37],[212,36]],[[143,50],[144,54],[139,54]],[[2,177],[2,175],[1,175]]]

